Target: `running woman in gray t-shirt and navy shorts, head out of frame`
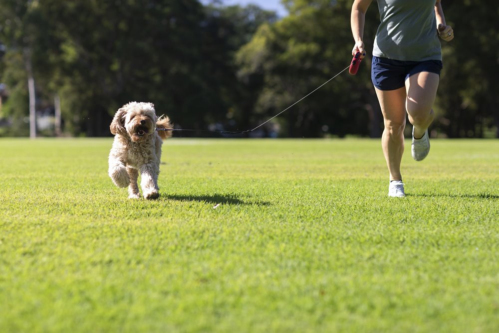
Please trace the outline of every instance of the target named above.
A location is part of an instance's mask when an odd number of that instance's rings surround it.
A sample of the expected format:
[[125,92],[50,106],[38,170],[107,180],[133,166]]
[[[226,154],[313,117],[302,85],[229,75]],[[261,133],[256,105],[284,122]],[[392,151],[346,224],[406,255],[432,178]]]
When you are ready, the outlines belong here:
[[[352,54],[366,55],[365,13],[373,0],[354,0],[351,27]],[[428,127],[442,69],[440,39],[450,41],[454,31],[445,22],[441,0],[377,0],[381,23],[374,40],[371,79],[383,113],[381,137],[390,173],[388,195],[404,197],[400,162],[404,152],[406,112],[412,129],[412,157],[423,160],[430,152]]]

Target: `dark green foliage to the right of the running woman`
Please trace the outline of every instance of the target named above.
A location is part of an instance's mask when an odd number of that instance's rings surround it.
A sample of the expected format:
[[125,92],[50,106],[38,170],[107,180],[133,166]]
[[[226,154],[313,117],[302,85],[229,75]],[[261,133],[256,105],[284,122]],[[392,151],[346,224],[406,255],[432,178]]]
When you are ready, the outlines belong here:
[[[449,137],[499,137],[499,8],[443,2],[455,38],[444,45],[444,70],[437,104],[441,129]],[[464,14],[465,13],[465,14]],[[496,132],[496,133],[492,133]]]

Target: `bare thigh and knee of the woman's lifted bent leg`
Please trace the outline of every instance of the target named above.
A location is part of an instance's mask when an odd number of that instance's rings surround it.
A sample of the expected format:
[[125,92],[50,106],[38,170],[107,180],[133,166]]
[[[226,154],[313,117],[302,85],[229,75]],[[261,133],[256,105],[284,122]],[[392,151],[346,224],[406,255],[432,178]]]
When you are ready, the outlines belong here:
[[405,81],[407,113],[412,117],[429,114],[437,96],[440,76],[432,72],[419,72]]

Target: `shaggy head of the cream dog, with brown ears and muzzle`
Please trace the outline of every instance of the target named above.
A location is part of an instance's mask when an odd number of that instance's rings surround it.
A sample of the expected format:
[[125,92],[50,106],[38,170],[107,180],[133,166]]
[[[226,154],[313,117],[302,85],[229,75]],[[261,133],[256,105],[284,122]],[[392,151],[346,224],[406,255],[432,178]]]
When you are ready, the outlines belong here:
[[133,142],[140,142],[156,130],[156,112],[152,103],[130,102],[123,105],[114,115],[111,133],[128,136]]

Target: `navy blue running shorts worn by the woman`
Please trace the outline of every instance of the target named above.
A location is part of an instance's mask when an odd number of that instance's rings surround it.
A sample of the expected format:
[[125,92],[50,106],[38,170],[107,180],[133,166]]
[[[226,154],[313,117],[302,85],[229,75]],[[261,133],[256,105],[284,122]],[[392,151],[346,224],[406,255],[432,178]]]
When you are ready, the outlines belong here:
[[442,61],[401,61],[373,56],[371,79],[376,88],[380,90],[395,90],[405,86],[409,76],[430,72],[440,75]]

